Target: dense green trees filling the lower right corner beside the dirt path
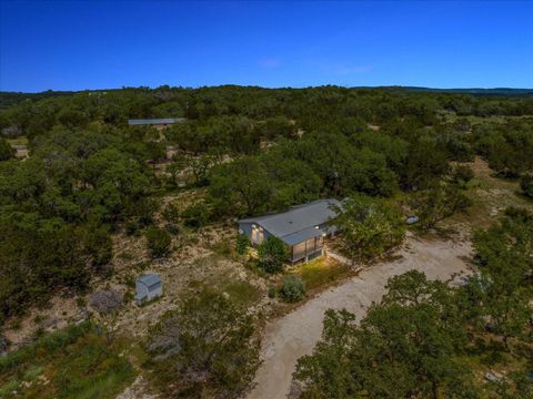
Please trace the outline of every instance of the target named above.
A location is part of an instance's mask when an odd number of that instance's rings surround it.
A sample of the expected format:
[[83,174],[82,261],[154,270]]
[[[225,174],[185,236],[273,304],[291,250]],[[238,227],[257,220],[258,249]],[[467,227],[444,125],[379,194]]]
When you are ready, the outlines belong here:
[[533,397],[533,215],[507,209],[474,248],[479,273],[459,287],[412,270],[363,320],[329,310],[298,364],[302,398]]

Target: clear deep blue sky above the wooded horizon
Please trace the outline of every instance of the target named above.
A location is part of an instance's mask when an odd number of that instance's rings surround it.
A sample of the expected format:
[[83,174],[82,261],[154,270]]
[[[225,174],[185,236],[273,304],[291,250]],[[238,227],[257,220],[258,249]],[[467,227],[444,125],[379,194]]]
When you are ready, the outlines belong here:
[[0,0],[0,90],[533,88],[533,2]]

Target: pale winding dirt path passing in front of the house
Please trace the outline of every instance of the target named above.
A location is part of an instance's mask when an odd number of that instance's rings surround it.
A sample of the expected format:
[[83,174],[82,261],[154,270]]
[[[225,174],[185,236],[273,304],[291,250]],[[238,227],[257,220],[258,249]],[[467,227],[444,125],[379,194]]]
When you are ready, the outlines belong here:
[[329,308],[354,313],[360,320],[369,305],[384,294],[389,277],[411,269],[424,272],[431,279],[449,279],[467,273],[464,257],[469,243],[428,242],[409,238],[401,258],[374,265],[346,283],[311,299],[291,314],[266,325],[263,337],[263,365],[255,378],[250,399],[282,399],[291,386],[296,360],[310,355],[322,334],[322,319]]

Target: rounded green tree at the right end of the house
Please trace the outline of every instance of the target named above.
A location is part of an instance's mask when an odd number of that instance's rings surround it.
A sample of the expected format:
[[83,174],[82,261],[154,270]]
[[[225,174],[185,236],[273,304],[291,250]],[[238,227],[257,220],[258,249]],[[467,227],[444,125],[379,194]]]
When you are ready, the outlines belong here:
[[398,209],[384,201],[352,196],[335,208],[331,221],[342,233],[344,249],[352,259],[368,260],[402,242],[405,229]]

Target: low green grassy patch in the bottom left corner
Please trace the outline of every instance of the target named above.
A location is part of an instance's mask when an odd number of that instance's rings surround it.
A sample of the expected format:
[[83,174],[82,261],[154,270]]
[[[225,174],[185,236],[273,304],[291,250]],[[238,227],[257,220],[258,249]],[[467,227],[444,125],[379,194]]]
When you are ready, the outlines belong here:
[[0,359],[0,398],[114,398],[135,375],[121,350],[90,323],[47,334]]

